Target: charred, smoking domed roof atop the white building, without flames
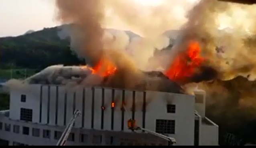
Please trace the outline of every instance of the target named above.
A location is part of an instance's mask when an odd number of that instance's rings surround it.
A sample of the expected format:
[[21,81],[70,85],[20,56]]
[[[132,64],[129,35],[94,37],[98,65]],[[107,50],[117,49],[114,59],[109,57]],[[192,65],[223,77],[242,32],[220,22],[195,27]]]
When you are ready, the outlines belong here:
[[[90,69],[80,66],[53,65],[27,78],[24,80],[24,83],[49,85],[66,85],[68,83],[73,83],[75,85],[86,85],[84,81],[90,75],[93,75]],[[171,81],[161,71],[142,71],[142,76],[139,78],[138,83],[132,87],[127,87],[125,82],[122,81],[125,79],[124,77],[126,77],[126,74],[115,73],[114,75],[104,77],[97,85],[139,91],[148,90],[183,93],[181,86]],[[134,75],[134,77],[136,76]],[[134,79],[134,81],[136,80]]]

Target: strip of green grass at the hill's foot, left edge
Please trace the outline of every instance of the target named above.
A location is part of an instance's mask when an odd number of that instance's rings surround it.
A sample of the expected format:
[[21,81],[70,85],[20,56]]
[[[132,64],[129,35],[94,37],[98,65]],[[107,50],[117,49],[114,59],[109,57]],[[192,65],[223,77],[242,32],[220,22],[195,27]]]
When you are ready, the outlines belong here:
[[37,72],[37,69],[0,69],[0,79],[24,79]]

